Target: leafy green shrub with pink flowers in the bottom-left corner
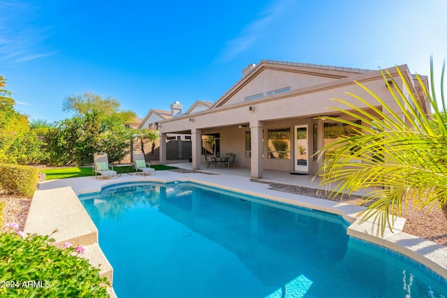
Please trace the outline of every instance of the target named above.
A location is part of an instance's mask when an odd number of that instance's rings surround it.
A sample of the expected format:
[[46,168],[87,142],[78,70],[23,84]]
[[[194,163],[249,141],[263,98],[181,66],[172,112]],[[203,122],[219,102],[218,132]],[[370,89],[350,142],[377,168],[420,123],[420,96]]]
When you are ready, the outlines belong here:
[[0,234],[0,297],[108,297],[107,278],[78,257],[83,246],[54,244],[50,236]]

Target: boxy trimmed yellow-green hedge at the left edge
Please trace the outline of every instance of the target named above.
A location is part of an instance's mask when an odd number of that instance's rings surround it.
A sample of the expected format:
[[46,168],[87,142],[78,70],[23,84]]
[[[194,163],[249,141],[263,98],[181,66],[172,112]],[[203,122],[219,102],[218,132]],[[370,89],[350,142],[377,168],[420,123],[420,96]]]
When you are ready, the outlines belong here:
[[36,191],[38,169],[27,165],[0,164],[0,191],[31,198]]

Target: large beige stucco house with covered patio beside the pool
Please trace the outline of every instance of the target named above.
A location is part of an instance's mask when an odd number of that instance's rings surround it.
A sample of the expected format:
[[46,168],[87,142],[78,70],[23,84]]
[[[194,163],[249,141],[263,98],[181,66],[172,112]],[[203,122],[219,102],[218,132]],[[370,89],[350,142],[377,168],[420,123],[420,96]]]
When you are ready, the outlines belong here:
[[[408,66],[397,67],[425,112],[430,113],[430,103],[416,77]],[[396,67],[387,70],[404,89]],[[427,77],[422,80],[427,87]],[[167,134],[191,134],[192,167],[196,170],[203,166],[205,154],[233,153],[235,165],[249,167],[254,178],[261,178],[263,170],[315,174],[322,161],[313,154],[350,129],[327,119],[315,119],[326,114],[342,117],[328,110],[344,108],[330,98],[358,105],[346,94],[351,92],[372,99],[354,81],[387,103],[393,102],[379,70],[270,60],[251,64],[242,70],[242,78],[207,110],[159,121],[160,161],[166,163]],[[403,114],[399,117],[404,119]]]

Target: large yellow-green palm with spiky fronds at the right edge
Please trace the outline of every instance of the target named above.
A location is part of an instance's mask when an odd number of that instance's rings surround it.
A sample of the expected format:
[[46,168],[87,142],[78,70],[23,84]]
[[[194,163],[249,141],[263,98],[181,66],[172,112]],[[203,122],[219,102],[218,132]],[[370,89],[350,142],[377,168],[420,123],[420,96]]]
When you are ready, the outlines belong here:
[[[404,75],[397,69],[400,79],[404,82],[402,90],[397,87],[388,71],[383,73],[383,79],[394,98],[391,104],[397,104],[399,107],[397,112],[390,104],[358,83],[382,108],[379,109],[377,104],[349,94],[359,103],[367,105],[372,112],[345,100],[335,99],[347,108],[333,110],[354,120],[326,117],[353,126],[356,133],[346,135],[338,142],[318,151],[320,157],[324,154],[321,185],[335,184],[334,190],[330,192],[331,197],[374,188],[374,191],[363,197],[369,206],[363,211],[360,219],[367,221],[374,218],[374,222],[379,225],[377,233],[380,231],[382,236],[387,226],[390,229],[393,227],[395,216],[402,213],[402,204],[408,207],[409,200],[413,200],[414,207],[418,209],[437,206],[444,211],[447,218],[445,61],[441,73],[441,106],[437,103],[434,92],[432,58],[430,69],[432,96],[425,89],[420,77],[418,81],[432,105],[434,112],[431,115],[424,114],[416,92],[412,91]],[[406,121],[397,114],[403,114]],[[351,163],[353,159],[362,162]]]

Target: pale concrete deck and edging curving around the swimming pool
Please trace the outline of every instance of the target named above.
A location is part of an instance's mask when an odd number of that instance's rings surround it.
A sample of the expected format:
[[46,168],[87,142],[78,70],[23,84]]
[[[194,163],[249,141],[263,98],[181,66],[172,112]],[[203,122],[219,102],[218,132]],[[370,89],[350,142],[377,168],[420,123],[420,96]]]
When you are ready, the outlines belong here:
[[[212,172],[212,170],[209,172]],[[447,280],[447,247],[402,232],[405,222],[404,218],[397,218],[393,232],[386,230],[384,237],[376,237],[374,223],[366,222],[360,224],[357,219],[358,212],[362,211],[364,207],[274,191],[269,189],[270,186],[268,184],[256,183],[251,181],[250,177],[237,173],[240,172],[222,171],[206,174],[203,172],[157,171],[156,176],[145,177],[135,175],[134,173],[132,176],[123,174],[117,179],[105,178],[101,180],[101,178],[82,177],[44,181],[39,185],[39,190],[36,191],[31,201],[25,232],[50,234],[56,228],[61,230],[61,233],[57,233],[58,235],[54,237],[56,241],[70,240],[73,244],[86,245],[87,248],[91,247],[90,255],[87,254],[85,257],[90,260],[92,265],[97,266],[101,264],[101,275],[107,276],[112,281],[112,267],[103,255],[100,246],[98,246],[98,231],[76,195],[98,192],[101,191],[103,186],[125,183],[126,181],[157,181],[161,183],[192,181],[207,186],[226,188],[239,193],[257,195],[268,200],[339,214],[346,221],[352,223],[348,228],[349,235],[407,255]],[[284,184],[290,184],[287,180],[281,180],[279,174],[268,172],[265,177],[269,176],[273,178],[270,181],[282,181]],[[292,180],[293,177],[288,179]],[[263,180],[269,181],[268,179]],[[307,184],[309,177],[304,177],[300,180],[304,182],[296,182],[298,180],[300,179],[293,180],[295,185],[304,183],[305,185],[302,186],[315,187],[314,182],[313,184]]]

